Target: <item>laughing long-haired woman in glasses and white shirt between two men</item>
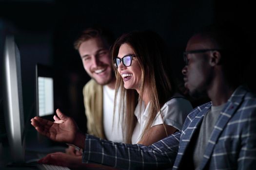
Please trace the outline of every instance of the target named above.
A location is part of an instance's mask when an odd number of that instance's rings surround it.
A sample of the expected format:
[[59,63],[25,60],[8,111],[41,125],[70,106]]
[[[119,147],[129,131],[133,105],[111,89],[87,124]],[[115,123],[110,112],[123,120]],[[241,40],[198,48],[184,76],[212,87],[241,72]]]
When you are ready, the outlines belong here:
[[120,94],[116,101],[125,105],[119,113],[124,113],[126,143],[150,145],[180,131],[192,105],[177,93],[162,38],[151,31],[123,34],[112,57]]

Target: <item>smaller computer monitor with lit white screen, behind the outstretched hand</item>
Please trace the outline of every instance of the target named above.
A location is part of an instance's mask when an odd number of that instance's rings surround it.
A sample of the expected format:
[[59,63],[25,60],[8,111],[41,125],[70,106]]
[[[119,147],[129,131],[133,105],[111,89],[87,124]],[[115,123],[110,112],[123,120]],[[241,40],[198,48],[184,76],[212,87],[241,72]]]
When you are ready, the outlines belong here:
[[37,115],[50,117],[54,114],[53,70],[49,66],[36,65]]

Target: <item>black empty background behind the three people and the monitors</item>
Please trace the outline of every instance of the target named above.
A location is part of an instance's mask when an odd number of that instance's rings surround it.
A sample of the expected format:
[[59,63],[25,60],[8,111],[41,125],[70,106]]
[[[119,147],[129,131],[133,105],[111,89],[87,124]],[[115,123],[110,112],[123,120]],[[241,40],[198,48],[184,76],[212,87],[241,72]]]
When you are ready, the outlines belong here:
[[15,34],[27,119],[35,116],[30,111],[36,104],[35,65],[41,63],[55,70],[55,107],[85,131],[82,87],[89,77],[73,48],[79,31],[103,26],[116,37],[134,30],[156,31],[167,42],[175,58],[170,67],[181,78],[182,51],[195,31],[232,21],[255,37],[255,9],[255,0],[0,0],[0,51],[3,35]]

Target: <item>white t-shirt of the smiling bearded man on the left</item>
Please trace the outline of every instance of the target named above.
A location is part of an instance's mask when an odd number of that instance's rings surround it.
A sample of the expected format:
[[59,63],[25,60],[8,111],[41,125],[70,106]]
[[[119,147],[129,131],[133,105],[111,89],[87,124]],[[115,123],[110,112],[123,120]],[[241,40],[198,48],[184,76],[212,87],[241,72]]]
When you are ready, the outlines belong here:
[[111,89],[107,85],[103,85],[103,127],[105,136],[108,140],[114,142],[124,142],[121,122],[118,121],[118,117],[122,116],[118,113],[119,101],[117,101],[117,109],[113,125],[114,101],[115,89]]

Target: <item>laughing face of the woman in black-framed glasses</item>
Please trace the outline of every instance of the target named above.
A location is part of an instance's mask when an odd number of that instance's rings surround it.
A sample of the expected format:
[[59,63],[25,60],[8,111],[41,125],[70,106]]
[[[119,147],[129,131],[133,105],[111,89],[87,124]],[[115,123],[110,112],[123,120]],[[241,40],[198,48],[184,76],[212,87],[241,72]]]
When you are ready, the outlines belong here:
[[118,57],[122,59],[124,56],[132,55],[132,64],[129,67],[126,67],[121,62],[118,66],[118,72],[123,78],[124,88],[126,89],[136,89],[139,90],[139,84],[141,81],[141,68],[139,66],[138,60],[135,56],[135,53],[130,45],[124,43],[120,46],[118,51]]

